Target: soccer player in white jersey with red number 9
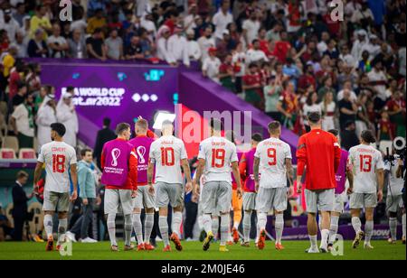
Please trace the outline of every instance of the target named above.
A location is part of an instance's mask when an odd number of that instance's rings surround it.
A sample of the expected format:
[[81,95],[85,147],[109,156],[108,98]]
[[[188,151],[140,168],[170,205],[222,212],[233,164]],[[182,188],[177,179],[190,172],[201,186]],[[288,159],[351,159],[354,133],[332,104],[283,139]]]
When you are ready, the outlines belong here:
[[[288,196],[292,196],[292,155],[289,144],[281,141],[281,125],[271,122],[270,139],[261,142],[254,154],[254,180],[256,191],[256,210],[260,236],[257,246],[263,249],[266,241],[267,214],[274,209],[276,216],[276,249],[283,250],[281,237],[284,228],[284,211],[287,209]],[[287,180],[289,179],[289,189]]]

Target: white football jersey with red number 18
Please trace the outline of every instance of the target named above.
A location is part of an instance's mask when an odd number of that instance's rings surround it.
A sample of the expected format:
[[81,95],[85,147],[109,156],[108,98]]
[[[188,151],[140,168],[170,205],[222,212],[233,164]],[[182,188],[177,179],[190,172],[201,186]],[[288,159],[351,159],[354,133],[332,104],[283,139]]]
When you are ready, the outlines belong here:
[[71,190],[69,171],[77,163],[75,149],[64,142],[51,142],[41,147],[38,162],[45,164],[45,190],[65,193]]

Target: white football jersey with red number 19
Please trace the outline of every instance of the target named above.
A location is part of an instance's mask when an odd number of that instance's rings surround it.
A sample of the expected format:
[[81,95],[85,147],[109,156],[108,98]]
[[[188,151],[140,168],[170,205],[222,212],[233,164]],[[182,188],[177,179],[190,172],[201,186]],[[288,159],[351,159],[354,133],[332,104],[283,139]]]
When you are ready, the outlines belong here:
[[204,159],[205,182],[226,181],[232,184],[232,162],[239,162],[236,145],[222,137],[210,137],[199,146],[198,159]]

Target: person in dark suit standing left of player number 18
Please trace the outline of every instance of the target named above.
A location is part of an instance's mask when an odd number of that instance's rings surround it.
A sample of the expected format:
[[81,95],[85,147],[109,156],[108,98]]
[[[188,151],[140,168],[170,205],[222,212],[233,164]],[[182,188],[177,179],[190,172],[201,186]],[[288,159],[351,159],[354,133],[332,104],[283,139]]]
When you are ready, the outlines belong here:
[[14,220],[14,231],[13,240],[22,241],[23,240],[23,229],[24,223],[27,220],[27,202],[29,199],[33,198],[33,193],[27,196],[24,191],[24,185],[28,181],[28,173],[26,171],[19,171],[17,173],[17,180],[15,181],[12,195],[13,195],[13,220]]

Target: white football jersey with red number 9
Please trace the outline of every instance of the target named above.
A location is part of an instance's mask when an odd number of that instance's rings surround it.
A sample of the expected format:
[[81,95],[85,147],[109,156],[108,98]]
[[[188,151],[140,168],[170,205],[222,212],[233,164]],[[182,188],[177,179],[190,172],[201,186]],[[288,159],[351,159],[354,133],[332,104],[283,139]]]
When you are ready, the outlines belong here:
[[287,187],[286,159],[292,159],[289,144],[278,138],[264,140],[257,146],[254,156],[260,159],[260,187]]

